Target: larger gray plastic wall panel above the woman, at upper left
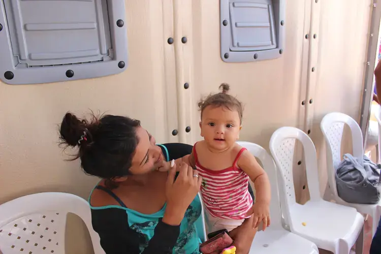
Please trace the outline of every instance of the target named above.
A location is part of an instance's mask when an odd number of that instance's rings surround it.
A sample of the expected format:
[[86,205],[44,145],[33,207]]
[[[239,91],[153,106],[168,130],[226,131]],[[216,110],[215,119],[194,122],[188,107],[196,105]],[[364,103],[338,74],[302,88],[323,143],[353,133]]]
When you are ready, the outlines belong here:
[[102,77],[128,63],[124,0],[0,0],[0,24],[8,84]]

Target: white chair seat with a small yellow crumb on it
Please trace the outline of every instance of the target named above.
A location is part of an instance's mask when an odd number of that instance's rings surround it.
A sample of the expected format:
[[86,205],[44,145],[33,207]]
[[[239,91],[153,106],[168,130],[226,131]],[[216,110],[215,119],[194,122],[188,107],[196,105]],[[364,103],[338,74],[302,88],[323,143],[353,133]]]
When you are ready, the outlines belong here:
[[339,239],[352,246],[364,224],[364,217],[355,208],[324,200],[293,205],[291,217],[293,233],[330,251],[335,250],[335,242]]

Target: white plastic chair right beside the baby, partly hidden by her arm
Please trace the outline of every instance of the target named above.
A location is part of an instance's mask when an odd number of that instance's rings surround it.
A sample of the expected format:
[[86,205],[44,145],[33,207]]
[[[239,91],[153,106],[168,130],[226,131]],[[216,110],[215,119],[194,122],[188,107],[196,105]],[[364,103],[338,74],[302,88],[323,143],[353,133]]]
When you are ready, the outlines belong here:
[[265,231],[259,231],[253,240],[250,253],[256,254],[317,254],[316,245],[296,234],[283,229],[279,207],[277,177],[274,161],[270,154],[257,144],[250,142],[237,142],[257,157],[268,174],[271,183],[270,216],[271,225]]

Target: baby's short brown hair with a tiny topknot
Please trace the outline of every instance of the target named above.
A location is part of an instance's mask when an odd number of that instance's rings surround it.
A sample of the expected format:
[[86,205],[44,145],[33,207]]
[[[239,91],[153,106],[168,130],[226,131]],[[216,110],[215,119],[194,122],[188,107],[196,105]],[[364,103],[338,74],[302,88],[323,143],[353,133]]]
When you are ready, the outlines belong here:
[[219,88],[222,89],[221,92],[215,93],[215,94],[209,94],[209,96],[207,96],[206,98],[202,99],[199,102],[201,117],[202,117],[202,113],[204,112],[205,108],[208,106],[225,107],[229,110],[237,110],[240,123],[242,123],[242,116],[243,116],[242,103],[240,101],[238,101],[237,98],[228,94],[228,91],[230,89],[228,84],[225,84],[225,83],[221,84],[219,86]]

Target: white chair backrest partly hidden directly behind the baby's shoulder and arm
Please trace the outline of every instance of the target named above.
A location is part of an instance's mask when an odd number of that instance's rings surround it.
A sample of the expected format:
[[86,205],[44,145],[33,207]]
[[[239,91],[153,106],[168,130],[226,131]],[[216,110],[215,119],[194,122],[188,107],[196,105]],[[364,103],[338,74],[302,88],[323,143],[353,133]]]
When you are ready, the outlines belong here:
[[245,147],[252,155],[257,157],[262,163],[263,169],[266,171],[270,184],[271,184],[271,202],[270,202],[270,216],[271,227],[281,228],[281,213],[279,205],[278,184],[274,161],[271,155],[262,147],[254,143],[238,141],[240,146]]

